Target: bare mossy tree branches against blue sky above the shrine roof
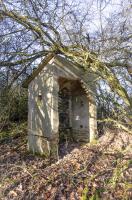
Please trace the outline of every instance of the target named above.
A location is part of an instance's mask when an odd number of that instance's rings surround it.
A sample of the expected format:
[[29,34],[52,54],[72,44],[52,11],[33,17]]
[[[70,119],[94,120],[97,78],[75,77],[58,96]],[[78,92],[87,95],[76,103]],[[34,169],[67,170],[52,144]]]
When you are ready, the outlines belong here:
[[127,0],[1,0],[1,79],[11,87],[49,53],[61,54],[98,74],[130,106],[129,14]]

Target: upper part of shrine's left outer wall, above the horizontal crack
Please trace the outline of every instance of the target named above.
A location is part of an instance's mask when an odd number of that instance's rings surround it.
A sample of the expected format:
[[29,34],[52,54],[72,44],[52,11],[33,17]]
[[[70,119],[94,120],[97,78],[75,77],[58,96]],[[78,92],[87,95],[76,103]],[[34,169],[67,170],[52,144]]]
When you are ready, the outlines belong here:
[[[51,108],[53,93],[53,73],[52,67],[45,69],[29,84],[28,118],[29,132],[34,135],[50,137]],[[39,99],[42,96],[42,100]],[[45,131],[46,130],[46,131]]]

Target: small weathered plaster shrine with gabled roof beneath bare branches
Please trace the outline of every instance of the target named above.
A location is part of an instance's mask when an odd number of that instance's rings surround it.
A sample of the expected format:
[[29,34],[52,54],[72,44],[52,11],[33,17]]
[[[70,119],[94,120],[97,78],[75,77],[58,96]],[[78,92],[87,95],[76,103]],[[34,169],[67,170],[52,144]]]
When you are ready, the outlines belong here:
[[59,139],[91,142],[96,136],[95,78],[66,58],[48,55],[28,85],[28,147],[56,157]]

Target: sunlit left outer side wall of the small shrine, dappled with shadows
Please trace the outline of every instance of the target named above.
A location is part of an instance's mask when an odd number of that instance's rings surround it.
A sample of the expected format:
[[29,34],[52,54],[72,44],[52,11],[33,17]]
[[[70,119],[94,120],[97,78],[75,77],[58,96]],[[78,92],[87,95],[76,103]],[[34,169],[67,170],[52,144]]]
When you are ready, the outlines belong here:
[[[53,66],[47,65],[28,87],[28,146],[34,153],[49,156],[53,138],[57,138],[58,124],[54,129]],[[41,98],[40,98],[41,96]],[[57,150],[56,150],[57,151]]]

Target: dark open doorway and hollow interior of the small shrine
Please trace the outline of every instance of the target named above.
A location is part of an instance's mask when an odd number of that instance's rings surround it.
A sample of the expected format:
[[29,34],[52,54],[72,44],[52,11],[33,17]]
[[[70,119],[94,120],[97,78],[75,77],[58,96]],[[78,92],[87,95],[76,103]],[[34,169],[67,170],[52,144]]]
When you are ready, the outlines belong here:
[[88,134],[88,100],[79,80],[59,78],[59,155],[79,148]]

